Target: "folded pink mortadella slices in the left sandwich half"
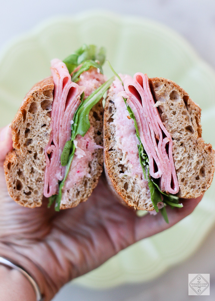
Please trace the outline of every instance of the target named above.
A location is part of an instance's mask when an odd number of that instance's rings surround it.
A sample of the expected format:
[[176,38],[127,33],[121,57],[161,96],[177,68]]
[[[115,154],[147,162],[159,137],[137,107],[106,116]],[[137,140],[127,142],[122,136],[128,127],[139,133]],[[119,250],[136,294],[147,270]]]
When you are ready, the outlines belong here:
[[61,165],[61,154],[66,142],[71,138],[71,121],[85,89],[71,81],[68,69],[61,60],[51,61],[51,73],[55,88],[51,110],[51,135],[45,147],[45,197],[57,194],[58,181],[64,178],[66,167]]

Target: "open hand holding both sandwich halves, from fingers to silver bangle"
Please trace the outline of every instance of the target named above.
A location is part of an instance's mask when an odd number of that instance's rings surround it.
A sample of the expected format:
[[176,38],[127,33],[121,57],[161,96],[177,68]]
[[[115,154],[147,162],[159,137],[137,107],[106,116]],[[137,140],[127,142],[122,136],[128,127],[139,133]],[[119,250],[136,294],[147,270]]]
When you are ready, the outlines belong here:
[[68,281],[98,267],[136,241],[170,228],[192,213],[201,197],[167,208],[169,224],[160,213],[138,217],[121,205],[102,175],[86,203],[59,213],[25,208],[8,194],[3,163],[12,148],[10,129],[0,130],[0,256],[21,265],[50,300]]

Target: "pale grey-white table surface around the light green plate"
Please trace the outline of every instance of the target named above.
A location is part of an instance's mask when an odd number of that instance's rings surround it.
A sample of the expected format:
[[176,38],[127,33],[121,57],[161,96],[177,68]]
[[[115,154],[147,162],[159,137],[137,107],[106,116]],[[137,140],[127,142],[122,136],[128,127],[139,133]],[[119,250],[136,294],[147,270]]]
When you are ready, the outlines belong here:
[[[69,0],[2,1],[0,10],[0,50],[5,43],[25,33],[48,17],[75,14],[87,9],[108,9],[159,21],[175,29],[215,68],[214,0]],[[172,267],[159,278],[141,284],[122,285],[108,290],[91,290],[67,284],[53,301],[149,301],[215,300],[215,228],[191,258]],[[210,273],[210,296],[188,296],[188,274]]]

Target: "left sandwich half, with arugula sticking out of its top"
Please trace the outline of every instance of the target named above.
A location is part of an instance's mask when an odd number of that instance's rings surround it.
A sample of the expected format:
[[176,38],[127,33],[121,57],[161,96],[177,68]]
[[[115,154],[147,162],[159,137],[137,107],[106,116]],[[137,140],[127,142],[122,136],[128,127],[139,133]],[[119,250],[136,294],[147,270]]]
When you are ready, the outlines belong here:
[[4,168],[10,196],[38,207],[43,196],[55,209],[88,199],[103,168],[104,48],[83,45],[24,98],[11,123],[13,150]]

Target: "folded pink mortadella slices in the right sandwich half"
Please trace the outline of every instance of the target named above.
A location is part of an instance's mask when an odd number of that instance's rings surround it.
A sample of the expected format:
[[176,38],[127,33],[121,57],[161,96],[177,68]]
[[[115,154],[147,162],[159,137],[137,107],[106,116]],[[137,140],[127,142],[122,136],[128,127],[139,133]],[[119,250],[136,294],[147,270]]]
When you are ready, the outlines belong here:
[[160,178],[161,191],[176,194],[179,184],[173,162],[173,141],[154,107],[148,76],[142,73],[136,73],[133,79],[125,76],[123,84],[127,104],[135,115],[140,140],[149,158],[150,175]]

